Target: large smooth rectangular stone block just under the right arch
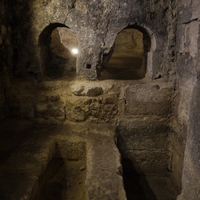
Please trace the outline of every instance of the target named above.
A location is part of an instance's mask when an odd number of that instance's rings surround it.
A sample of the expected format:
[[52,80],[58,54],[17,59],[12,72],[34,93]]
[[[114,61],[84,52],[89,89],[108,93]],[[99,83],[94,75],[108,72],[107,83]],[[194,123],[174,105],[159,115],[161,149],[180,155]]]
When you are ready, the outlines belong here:
[[160,84],[134,84],[125,92],[125,115],[162,115],[171,111],[171,88]]

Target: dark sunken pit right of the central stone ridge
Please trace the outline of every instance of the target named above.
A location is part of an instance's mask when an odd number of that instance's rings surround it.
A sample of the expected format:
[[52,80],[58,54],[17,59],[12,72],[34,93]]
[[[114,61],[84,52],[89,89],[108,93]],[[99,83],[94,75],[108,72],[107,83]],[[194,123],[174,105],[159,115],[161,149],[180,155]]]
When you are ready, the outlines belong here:
[[[136,129],[132,129],[132,132],[127,134],[124,132],[125,129],[117,133],[116,146],[121,154],[122,176],[127,200],[175,200],[178,191],[171,179],[171,172],[168,170],[168,161],[170,161],[166,160],[169,158],[168,151],[160,154],[158,148],[156,152],[152,149],[147,150],[147,146],[146,149],[145,146],[143,148],[144,141],[146,139],[146,142],[151,141],[149,140],[151,136],[145,138],[142,137],[141,132],[133,133]],[[134,135],[137,135],[137,138]],[[166,140],[163,142],[166,143]],[[151,141],[150,145],[154,145],[154,142]],[[162,165],[164,168],[161,170]]]

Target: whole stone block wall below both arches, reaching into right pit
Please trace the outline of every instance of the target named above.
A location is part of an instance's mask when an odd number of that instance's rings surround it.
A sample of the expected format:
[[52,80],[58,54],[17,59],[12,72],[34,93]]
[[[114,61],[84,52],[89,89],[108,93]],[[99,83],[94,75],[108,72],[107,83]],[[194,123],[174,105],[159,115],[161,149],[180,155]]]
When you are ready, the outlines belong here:
[[7,91],[10,117],[42,124],[114,124],[118,127],[118,146],[138,173],[171,174],[169,119],[173,85],[160,80],[79,78],[71,82],[13,81]]

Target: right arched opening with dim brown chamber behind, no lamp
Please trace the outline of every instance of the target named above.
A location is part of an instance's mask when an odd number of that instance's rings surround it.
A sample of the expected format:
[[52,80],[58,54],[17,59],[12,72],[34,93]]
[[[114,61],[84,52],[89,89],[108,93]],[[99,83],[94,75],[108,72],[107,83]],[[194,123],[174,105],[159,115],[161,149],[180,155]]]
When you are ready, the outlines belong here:
[[147,71],[151,40],[147,31],[129,26],[118,33],[110,52],[104,55],[101,79],[142,79]]

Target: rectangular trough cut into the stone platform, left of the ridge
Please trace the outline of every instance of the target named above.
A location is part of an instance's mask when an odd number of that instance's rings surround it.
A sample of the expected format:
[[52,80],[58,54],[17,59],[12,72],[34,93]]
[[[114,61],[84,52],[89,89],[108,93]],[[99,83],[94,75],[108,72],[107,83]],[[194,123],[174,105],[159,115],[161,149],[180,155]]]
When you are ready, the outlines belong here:
[[45,171],[39,177],[35,200],[87,200],[86,144],[59,141]]

